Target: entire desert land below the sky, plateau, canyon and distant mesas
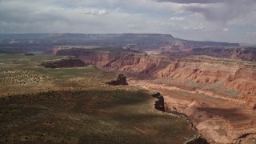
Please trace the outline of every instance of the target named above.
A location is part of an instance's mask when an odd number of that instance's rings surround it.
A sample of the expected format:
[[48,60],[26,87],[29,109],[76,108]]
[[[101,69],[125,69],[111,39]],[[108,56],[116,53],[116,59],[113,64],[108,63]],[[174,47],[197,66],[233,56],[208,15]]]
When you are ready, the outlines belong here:
[[256,142],[255,46],[15,36],[0,34],[2,143]]

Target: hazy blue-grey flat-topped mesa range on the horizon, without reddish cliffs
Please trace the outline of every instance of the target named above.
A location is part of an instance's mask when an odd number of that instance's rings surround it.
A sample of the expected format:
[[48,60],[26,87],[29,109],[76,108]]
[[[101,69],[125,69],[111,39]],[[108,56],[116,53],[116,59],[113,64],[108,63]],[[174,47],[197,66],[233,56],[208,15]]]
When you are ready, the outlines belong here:
[[0,34],[1,44],[88,45],[142,50],[186,51],[239,43],[188,41],[171,34]]

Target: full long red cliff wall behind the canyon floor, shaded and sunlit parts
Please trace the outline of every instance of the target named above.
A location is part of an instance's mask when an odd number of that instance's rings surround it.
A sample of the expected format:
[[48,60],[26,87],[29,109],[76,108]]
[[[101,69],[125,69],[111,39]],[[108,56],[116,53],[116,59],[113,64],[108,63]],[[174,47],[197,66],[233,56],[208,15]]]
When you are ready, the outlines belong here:
[[74,55],[86,64],[103,70],[143,74],[160,78],[173,86],[210,90],[216,94],[242,99],[253,109],[256,103],[256,65],[210,57],[175,60],[161,56],[122,51],[59,50],[58,55]]

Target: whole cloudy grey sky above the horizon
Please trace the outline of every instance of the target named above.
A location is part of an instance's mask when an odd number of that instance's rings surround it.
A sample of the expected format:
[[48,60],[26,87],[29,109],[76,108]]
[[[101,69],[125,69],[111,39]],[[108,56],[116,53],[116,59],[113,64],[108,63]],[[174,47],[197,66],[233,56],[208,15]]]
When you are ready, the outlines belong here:
[[160,33],[256,44],[256,0],[0,0],[0,33]]

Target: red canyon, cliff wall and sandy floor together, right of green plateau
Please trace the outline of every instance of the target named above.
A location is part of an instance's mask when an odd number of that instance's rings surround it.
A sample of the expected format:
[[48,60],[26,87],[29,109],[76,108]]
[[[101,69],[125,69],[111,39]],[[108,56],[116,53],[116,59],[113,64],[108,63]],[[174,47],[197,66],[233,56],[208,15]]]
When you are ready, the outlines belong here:
[[172,58],[125,49],[60,49],[84,63],[126,74],[128,83],[159,91],[165,110],[185,114],[210,143],[255,142],[256,64],[192,55]]

